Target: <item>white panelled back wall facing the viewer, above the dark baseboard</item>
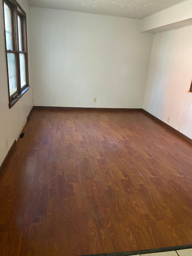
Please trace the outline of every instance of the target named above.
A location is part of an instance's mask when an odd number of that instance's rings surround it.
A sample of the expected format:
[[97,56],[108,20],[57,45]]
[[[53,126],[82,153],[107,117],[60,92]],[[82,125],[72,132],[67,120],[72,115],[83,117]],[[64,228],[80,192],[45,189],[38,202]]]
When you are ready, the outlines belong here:
[[140,20],[32,7],[31,28],[34,105],[142,107],[154,35]]

